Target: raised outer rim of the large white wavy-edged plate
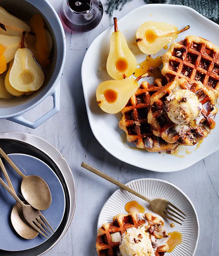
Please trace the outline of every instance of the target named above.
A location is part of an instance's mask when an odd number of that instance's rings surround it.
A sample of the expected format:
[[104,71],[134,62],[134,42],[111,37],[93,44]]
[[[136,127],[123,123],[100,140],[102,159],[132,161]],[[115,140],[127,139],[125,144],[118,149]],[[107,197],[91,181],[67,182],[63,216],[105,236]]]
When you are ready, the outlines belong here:
[[[191,12],[193,12],[195,15],[199,16],[201,19],[204,19],[206,21],[208,21],[209,23],[211,23],[213,26],[219,28],[219,25],[216,24],[215,22],[207,19],[206,17],[204,17],[203,15],[201,15],[200,13],[198,13],[196,10],[192,9],[191,7],[188,7],[188,6],[183,6],[183,5],[172,5],[172,4],[164,4],[164,3],[149,3],[149,4],[145,4],[143,6],[140,6],[134,10],[132,10],[131,12],[127,13],[126,15],[124,15],[123,17],[121,17],[121,20],[123,20],[123,18],[127,15],[129,15],[130,13],[132,12],[136,12],[136,10],[140,9],[140,8],[150,8],[150,6],[155,6],[155,7],[162,7],[162,6],[169,6],[171,8],[176,8],[176,9],[188,9],[190,10]],[[119,22],[118,21],[118,22]],[[96,41],[99,40],[99,37],[105,33],[106,31],[110,30],[111,29],[111,26],[109,28],[107,28],[106,30],[104,30],[103,32],[101,32],[100,35],[98,35],[94,41],[91,43],[91,45],[95,44]],[[89,119],[89,124],[90,124],[90,127],[91,127],[91,130],[92,130],[92,133],[93,135],[95,136],[95,138],[97,139],[97,141],[100,143],[100,145],[108,152],[110,153],[112,156],[114,156],[116,159],[119,159],[120,161],[122,162],[125,162],[125,163],[128,163],[132,166],[136,166],[136,167],[139,167],[139,168],[142,168],[142,169],[145,169],[145,170],[151,170],[151,171],[156,171],[156,172],[160,172],[160,173],[169,173],[169,172],[174,172],[174,171],[180,171],[180,170],[184,170],[188,167],[191,167],[192,165],[194,165],[195,163],[201,161],[202,159],[206,158],[207,156],[213,154],[214,152],[218,151],[218,149],[216,149],[215,151],[213,152],[207,152],[204,156],[199,156],[195,162],[193,163],[187,163],[187,161],[183,161],[183,166],[182,166],[182,163],[181,164],[178,164],[178,165],[172,165],[172,166],[169,166],[169,169],[168,170],[163,170],[163,169],[160,169],[160,168],[153,168],[152,166],[149,167],[149,169],[145,168],[144,166],[141,165],[141,163],[133,163],[131,162],[129,159],[127,159],[126,157],[124,156],[118,156],[116,153],[114,153],[109,147],[108,145],[106,145],[101,139],[99,139],[98,137],[98,134],[97,132],[95,131],[95,127],[93,125],[93,122],[92,122],[92,118],[91,118],[91,115],[90,115],[90,107],[89,107],[89,103],[88,103],[88,99],[87,99],[87,95],[86,95],[86,89],[85,89],[85,82],[84,82],[84,77],[86,76],[86,69],[85,69],[85,62],[86,62],[86,59],[87,59],[87,56],[90,52],[90,47],[91,45],[89,46],[88,50],[86,51],[85,53],[85,56],[84,56],[84,59],[83,59],[83,62],[82,62],[82,67],[81,67],[81,79],[82,79],[82,88],[83,88],[83,93],[84,93],[84,100],[85,100],[85,105],[86,105],[86,110],[87,110],[87,115],[88,115],[88,119]],[[148,152],[146,152],[148,153]],[[182,166],[182,167],[181,167]]]

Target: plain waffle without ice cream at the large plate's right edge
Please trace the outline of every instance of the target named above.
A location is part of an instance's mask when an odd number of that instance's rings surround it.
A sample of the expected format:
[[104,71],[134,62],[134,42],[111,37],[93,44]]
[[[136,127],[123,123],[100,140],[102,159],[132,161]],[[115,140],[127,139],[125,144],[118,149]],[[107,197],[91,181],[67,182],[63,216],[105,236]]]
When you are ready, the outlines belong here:
[[219,48],[197,36],[187,36],[179,43],[172,43],[162,57],[161,73],[167,81],[185,78],[200,81],[219,93]]

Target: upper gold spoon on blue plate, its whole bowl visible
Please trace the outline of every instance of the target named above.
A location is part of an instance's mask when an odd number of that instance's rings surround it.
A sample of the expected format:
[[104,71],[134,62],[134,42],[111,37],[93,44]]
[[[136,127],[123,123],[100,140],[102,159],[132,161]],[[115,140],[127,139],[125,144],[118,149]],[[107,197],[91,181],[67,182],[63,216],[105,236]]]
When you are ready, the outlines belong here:
[[24,199],[37,210],[46,210],[50,207],[52,197],[47,183],[37,175],[24,175],[17,166],[10,160],[7,154],[0,147],[0,154],[22,177],[21,192]]

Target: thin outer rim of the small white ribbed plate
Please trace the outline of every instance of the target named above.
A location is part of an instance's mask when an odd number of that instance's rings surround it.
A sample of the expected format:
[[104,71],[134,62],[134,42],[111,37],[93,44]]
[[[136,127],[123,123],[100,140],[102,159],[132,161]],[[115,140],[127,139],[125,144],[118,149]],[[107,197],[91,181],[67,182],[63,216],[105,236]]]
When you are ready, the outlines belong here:
[[[196,216],[196,220],[197,220],[197,226],[198,226],[198,234],[197,234],[197,240],[196,240],[196,245],[195,245],[195,249],[194,249],[194,252],[192,254],[192,256],[195,255],[195,252],[196,252],[196,249],[197,249],[197,246],[198,246],[198,240],[199,240],[199,235],[200,235],[200,224],[199,224],[199,220],[198,220],[198,214],[196,212],[196,209],[195,209],[195,206],[194,204],[192,203],[191,199],[186,195],[186,193],[184,193],[178,186],[174,185],[173,183],[171,182],[168,182],[168,181],[165,181],[165,180],[160,180],[160,179],[156,179],[156,178],[139,178],[139,179],[136,179],[136,180],[132,180],[132,181],[129,181],[127,183],[125,183],[125,185],[129,185],[130,183],[132,182],[136,182],[136,181],[143,181],[143,180],[154,180],[154,181],[160,181],[160,182],[164,182],[166,184],[169,184],[171,186],[173,186],[174,188],[176,188],[177,190],[179,190],[183,196],[185,196],[187,198],[187,200],[189,201],[190,205],[192,206],[192,209],[194,210],[195,212],[195,216]],[[101,208],[100,210],[100,213],[99,213],[99,216],[98,216],[98,219],[97,219],[97,231],[98,231],[98,223],[99,223],[99,219],[100,219],[100,215],[101,215],[101,212],[103,211],[106,203],[110,200],[110,198],[115,194],[117,193],[119,190],[122,190],[121,188],[119,189],[116,189],[112,195],[110,197],[108,197],[108,199],[106,200],[106,202],[104,203],[103,207]]]

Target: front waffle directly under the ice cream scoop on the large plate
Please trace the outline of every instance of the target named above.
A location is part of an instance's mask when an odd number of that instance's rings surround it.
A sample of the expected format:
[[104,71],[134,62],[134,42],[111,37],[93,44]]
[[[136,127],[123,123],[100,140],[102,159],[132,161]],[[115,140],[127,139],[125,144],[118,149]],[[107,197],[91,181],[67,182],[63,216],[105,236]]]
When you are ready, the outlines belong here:
[[[188,89],[195,93],[203,108],[198,117],[187,125],[173,123],[165,111],[166,97],[179,89]],[[186,79],[182,78],[168,83],[151,96],[148,122],[153,126],[153,133],[165,141],[192,146],[204,139],[214,129],[214,116],[217,114],[217,111],[215,95],[211,89],[203,86],[201,82],[194,81],[188,83]]]

